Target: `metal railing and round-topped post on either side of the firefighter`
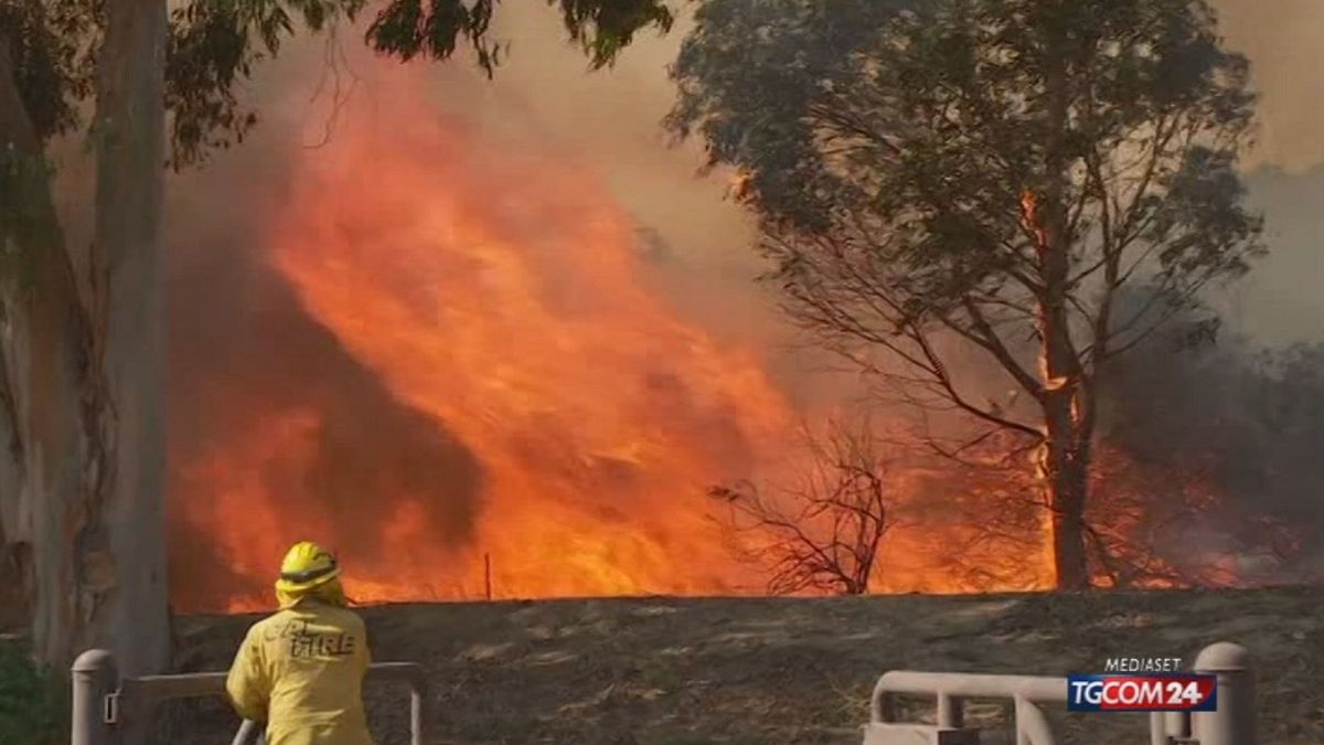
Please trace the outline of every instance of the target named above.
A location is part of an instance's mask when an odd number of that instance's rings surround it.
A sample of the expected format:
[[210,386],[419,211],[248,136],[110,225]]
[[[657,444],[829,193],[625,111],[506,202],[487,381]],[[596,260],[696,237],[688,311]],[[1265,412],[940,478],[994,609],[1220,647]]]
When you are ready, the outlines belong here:
[[[224,672],[120,677],[114,656],[105,650],[79,655],[71,672],[71,745],[117,745],[124,733],[142,732],[158,704],[226,695]],[[422,665],[377,663],[368,667],[365,683],[409,684],[409,742],[422,745],[428,701],[428,679]],[[233,745],[244,745],[254,734],[261,737],[260,729],[256,722],[242,722]]]

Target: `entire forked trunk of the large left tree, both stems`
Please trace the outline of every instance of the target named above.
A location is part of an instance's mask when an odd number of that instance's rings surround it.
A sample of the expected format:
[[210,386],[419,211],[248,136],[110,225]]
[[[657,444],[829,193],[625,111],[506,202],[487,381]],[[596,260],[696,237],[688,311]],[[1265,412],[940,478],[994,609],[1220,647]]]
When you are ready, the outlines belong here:
[[37,654],[169,660],[164,522],[164,0],[111,0],[98,69],[90,297],[79,297],[42,143],[0,48],[0,521]]

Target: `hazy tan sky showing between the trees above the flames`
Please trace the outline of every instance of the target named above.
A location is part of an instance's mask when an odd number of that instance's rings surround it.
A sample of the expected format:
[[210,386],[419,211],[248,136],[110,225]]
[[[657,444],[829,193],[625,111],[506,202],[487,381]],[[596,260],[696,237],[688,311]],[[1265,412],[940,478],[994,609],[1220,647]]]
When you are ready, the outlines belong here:
[[[1250,56],[1262,91],[1258,146],[1247,160],[1255,201],[1268,217],[1274,251],[1253,276],[1222,293],[1231,327],[1276,343],[1324,330],[1324,0],[1217,0],[1229,44]],[[1267,11],[1271,8],[1271,11]],[[458,121],[502,138],[532,143],[587,167],[609,184],[622,207],[657,231],[669,258],[650,280],[714,333],[788,341],[775,310],[749,280],[761,265],[749,251],[749,220],[723,199],[719,179],[699,179],[698,143],[670,147],[659,119],[674,87],[666,68],[686,30],[643,34],[617,66],[589,73],[564,41],[556,13],[543,3],[503,5],[495,32],[511,44],[507,65],[489,82],[459,58],[437,65],[436,94]],[[372,103],[373,74],[357,33],[344,33],[354,74],[361,78],[352,106]],[[323,137],[324,107],[310,105],[322,65],[320,41],[291,45],[263,70],[253,94],[263,99],[269,130],[303,119],[305,142]],[[299,50],[299,46],[303,46]],[[312,49],[315,46],[315,49]],[[326,97],[323,95],[323,102]],[[286,121],[275,101],[282,101]],[[267,131],[267,137],[277,133]],[[241,148],[244,150],[244,148]],[[241,155],[242,156],[242,155]],[[794,355],[786,355],[792,363]]]

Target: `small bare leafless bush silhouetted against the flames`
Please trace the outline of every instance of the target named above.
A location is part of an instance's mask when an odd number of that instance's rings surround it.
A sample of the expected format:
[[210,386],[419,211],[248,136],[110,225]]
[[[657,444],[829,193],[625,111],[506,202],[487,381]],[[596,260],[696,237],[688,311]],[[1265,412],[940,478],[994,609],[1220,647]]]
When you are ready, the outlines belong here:
[[730,508],[726,525],[752,534],[741,550],[769,570],[768,591],[839,595],[869,593],[879,549],[891,528],[886,467],[867,427],[830,424],[826,436],[806,430],[809,465],[798,483],[764,494],[741,483],[714,487]]

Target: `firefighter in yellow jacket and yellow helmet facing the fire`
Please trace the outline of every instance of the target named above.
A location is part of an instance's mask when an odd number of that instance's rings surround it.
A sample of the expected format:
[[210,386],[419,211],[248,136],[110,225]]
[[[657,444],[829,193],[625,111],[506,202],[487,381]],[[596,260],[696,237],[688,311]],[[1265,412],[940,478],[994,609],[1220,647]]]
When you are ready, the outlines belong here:
[[249,628],[225,689],[267,745],[372,745],[363,711],[368,638],[348,610],[336,558],[295,544],[275,582],[281,610]]

